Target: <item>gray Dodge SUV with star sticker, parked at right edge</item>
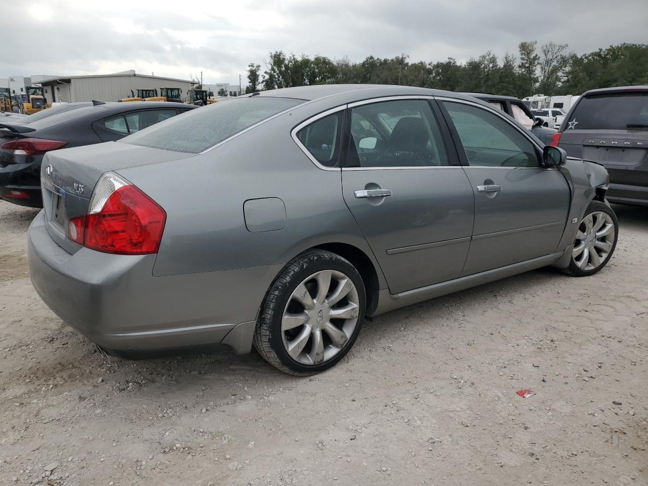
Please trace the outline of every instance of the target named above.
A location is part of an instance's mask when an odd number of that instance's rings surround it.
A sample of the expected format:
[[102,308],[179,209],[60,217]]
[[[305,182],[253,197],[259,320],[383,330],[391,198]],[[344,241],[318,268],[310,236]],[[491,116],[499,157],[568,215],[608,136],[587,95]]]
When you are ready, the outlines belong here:
[[610,202],[648,205],[648,86],[587,91],[551,145],[604,165]]

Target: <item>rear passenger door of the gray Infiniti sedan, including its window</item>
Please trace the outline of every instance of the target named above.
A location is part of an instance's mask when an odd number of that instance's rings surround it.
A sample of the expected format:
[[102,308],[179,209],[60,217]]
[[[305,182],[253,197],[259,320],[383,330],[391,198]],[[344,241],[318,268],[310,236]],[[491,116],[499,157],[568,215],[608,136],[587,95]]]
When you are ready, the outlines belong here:
[[459,277],[468,254],[474,196],[439,116],[423,98],[347,111],[342,192],[391,294]]

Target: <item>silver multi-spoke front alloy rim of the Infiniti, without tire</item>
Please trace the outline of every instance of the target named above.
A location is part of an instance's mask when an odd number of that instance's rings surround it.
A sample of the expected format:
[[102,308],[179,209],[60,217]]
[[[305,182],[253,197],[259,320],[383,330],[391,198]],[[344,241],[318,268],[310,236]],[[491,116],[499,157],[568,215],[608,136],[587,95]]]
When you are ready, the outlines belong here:
[[616,228],[609,214],[587,214],[576,232],[572,259],[581,270],[595,270],[607,260],[614,245]]

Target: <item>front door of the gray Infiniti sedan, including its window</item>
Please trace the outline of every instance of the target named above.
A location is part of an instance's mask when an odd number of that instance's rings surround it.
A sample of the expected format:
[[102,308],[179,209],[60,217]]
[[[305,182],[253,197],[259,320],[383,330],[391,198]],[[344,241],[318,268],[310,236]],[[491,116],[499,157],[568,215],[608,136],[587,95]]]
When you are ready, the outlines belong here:
[[539,147],[496,111],[459,100],[442,105],[475,194],[472,242],[462,275],[553,253],[570,206],[562,173],[542,167]]

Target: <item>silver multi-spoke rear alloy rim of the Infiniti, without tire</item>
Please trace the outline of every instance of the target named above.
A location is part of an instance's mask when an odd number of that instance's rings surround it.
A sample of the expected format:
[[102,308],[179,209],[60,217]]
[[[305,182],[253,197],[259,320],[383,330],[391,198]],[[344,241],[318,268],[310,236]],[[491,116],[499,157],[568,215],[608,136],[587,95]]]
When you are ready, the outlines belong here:
[[304,365],[330,360],[351,338],[358,316],[358,290],[347,275],[337,270],[314,273],[297,285],[284,308],[284,349]]

